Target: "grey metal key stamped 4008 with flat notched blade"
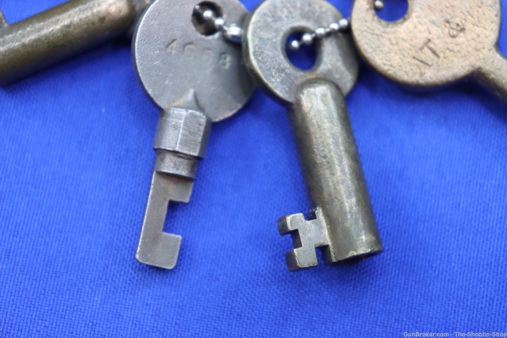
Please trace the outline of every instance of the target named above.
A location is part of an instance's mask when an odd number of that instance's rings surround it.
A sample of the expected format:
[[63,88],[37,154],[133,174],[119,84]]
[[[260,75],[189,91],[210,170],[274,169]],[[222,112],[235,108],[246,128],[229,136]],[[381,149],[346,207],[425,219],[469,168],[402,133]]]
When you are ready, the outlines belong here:
[[134,33],[133,62],[139,83],[162,109],[155,149],[157,159],[137,248],[137,259],[172,269],[180,242],[163,232],[169,201],[188,203],[211,122],[237,112],[255,86],[244,67],[241,46],[225,32],[200,23],[196,8],[207,8],[241,25],[247,15],[237,0],[156,0]]

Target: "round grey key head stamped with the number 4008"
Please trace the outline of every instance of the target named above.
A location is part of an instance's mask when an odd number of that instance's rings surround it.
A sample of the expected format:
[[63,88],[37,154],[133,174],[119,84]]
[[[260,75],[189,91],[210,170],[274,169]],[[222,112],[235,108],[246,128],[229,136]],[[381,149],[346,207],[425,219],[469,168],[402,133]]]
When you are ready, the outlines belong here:
[[132,57],[137,79],[156,105],[167,108],[193,91],[216,122],[238,111],[255,86],[241,46],[196,15],[197,5],[227,25],[242,26],[247,15],[238,0],[156,0],[137,25]]

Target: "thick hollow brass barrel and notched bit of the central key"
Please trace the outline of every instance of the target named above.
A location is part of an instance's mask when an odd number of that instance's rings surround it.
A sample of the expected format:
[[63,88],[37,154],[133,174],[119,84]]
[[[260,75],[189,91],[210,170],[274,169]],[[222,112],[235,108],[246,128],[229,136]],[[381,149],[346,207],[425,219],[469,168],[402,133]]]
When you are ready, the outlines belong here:
[[281,235],[292,233],[295,250],[289,270],[317,265],[316,247],[326,264],[382,252],[382,242],[355,145],[345,97],[324,79],[304,82],[289,120],[296,138],[312,212],[280,218]]

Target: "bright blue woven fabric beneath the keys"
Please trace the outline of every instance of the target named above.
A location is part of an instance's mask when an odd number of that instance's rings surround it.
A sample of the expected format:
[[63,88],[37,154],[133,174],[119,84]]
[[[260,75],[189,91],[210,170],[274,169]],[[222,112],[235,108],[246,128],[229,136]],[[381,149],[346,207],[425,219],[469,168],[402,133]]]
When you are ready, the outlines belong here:
[[[0,8],[15,22],[59,3]],[[308,202],[284,109],[257,91],[214,125],[191,203],[171,206],[183,244],[162,271],[135,260],[158,109],[129,43],[0,89],[0,336],[507,331],[505,104],[473,84],[413,93],[365,65],[347,100],[382,255],[287,271],[276,220]]]

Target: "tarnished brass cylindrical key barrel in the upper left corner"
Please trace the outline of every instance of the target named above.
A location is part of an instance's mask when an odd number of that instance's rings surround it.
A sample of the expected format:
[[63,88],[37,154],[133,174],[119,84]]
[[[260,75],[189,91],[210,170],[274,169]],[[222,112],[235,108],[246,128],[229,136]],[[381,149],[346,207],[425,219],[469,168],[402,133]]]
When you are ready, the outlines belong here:
[[72,0],[2,27],[0,84],[75,56],[125,34],[151,0]]

